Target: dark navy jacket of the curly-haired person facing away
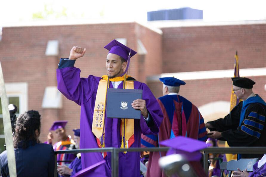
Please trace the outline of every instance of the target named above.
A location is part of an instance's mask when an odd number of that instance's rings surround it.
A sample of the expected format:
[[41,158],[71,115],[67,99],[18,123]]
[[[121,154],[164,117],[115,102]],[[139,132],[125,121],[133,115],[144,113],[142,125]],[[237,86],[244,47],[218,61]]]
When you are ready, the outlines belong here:
[[[17,177],[53,177],[55,155],[51,145],[35,144],[15,149]],[[7,152],[0,155],[1,174],[9,177]]]

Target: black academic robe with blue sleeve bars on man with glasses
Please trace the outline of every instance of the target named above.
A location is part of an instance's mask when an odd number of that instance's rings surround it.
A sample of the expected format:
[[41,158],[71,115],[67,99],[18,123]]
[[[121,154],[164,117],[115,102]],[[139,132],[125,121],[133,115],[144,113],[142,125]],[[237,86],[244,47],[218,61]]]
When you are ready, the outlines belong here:
[[[266,146],[266,106],[250,103],[246,109],[244,120],[239,126],[242,105],[243,102],[240,102],[224,118],[207,122],[214,127],[210,130],[222,132],[220,140],[227,141],[229,146]],[[262,156],[263,154],[242,154],[242,158]]]

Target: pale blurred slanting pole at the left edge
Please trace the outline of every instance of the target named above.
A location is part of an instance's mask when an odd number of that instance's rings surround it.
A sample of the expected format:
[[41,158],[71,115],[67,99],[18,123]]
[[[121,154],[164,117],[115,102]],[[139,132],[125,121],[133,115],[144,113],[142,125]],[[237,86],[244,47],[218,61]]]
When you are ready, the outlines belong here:
[[7,93],[4,85],[4,77],[3,77],[1,62],[0,62],[0,97],[2,103],[4,139],[7,149],[7,162],[8,162],[9,175],[10,177],[16,177],[17,176],[16,158],[15,158],[15,151],[13,144],[10,114],[8,110]]

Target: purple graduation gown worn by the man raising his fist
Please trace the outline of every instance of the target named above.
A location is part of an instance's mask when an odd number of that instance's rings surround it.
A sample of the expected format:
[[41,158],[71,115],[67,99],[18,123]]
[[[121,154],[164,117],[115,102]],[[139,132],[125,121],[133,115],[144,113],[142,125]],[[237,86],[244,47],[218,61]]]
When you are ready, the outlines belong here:
[[[64,67],[57,69],[58,90],[69,100],[81,106],[80,119],[80,147],[98,148],[94,134],[92,133],[92,119],[95,105],[96,93],[101,77],[89,75],[87,78],[80,78],[80,69]],[[110,88],[113,88],[110,83]],[[123,82],[118,86],[123,88]],[[141,133],[157,134],[163,114],[160,106],[145,83],[134,81],[134,89],[143,90],[143,100],[146,100],[146,108],[149,111],[153,125],[148,127],[144,117],[134,120],[134,143],[131,147],[140,147]],[[120,147],[120,123],[121,119],[105,119],[105,146]],[[89,167],[103,160],[101,153],[81,153],[82,169]],[[111,176],[111,153],[107,153],[106,163],[95,170],[94,177]],[[140,153],[128,152],[119,153],[119,176],[136,177],[140,176]]]

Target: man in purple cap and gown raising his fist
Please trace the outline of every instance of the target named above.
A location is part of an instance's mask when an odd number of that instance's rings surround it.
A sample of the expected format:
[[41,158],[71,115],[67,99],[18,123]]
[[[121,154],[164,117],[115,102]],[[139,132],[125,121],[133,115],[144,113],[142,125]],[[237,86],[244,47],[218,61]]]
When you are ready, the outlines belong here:
[[[81,148],[97,147],[140,147],[140,136],[157,134],[163,114],[160,106],[145,83],[136,81],[126,74],[130,57],[137,52],[111,41],[105,46],[107,75],[80,77],[80,69],[74,67],[75,60],[82,57],[86,49],[74,46],[67,59],[61,59],[57,69],[58,90],[69,100],[81,106]],[[140,119],[116,119],[106,117],[107,88],[142,89],[142,99],[134,100],[134,109],[141,112]],[[106,160],[93,176],[111,176],[111,153],[81,153],[82,169]],[[140,153],[119,153],[119,176],[140,175]]]

